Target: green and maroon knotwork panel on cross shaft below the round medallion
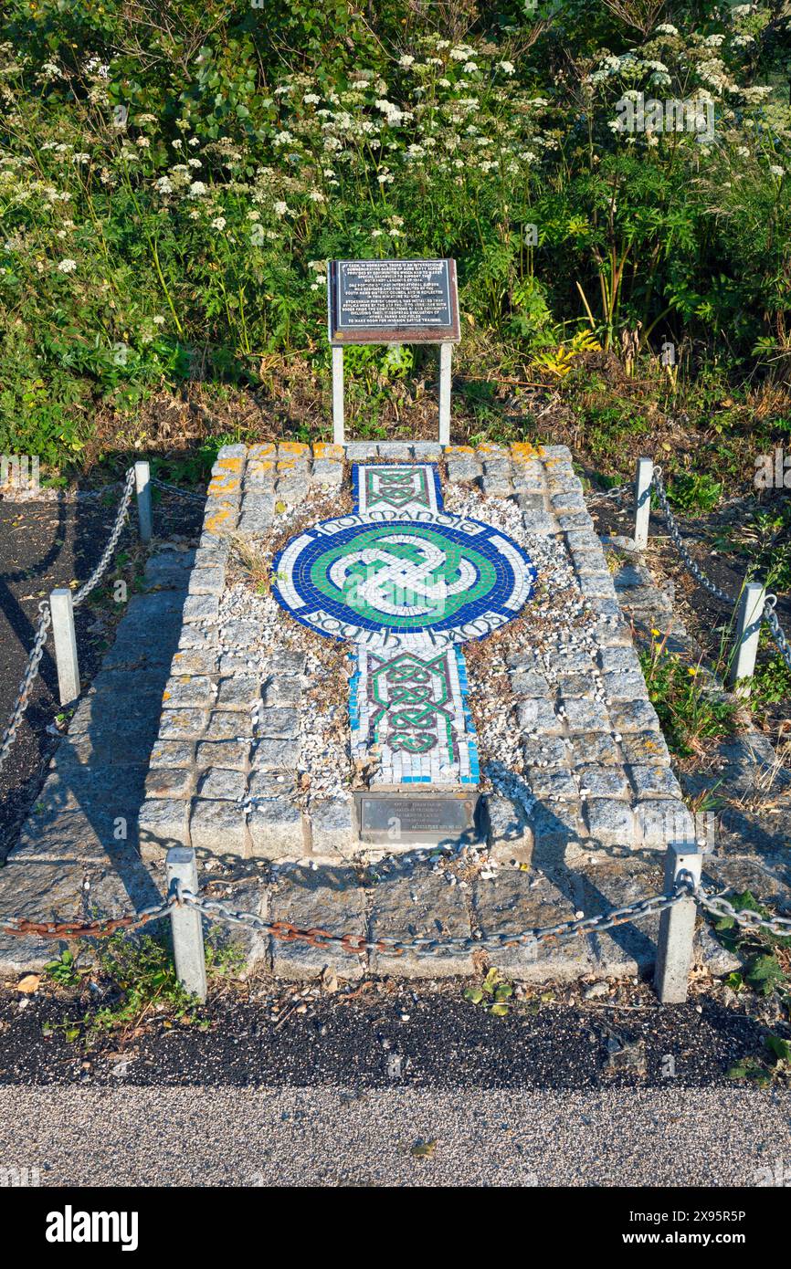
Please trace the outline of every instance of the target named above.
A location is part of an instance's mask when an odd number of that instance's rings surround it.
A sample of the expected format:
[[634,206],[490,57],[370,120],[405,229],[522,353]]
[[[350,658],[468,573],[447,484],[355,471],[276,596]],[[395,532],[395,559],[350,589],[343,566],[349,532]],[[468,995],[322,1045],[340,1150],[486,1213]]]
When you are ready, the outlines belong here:
[[444,728],[448,750],[452,751],[452,711],[444,708],[452,700],[452,692],[444,654],[423,661],[402,652],[372,671],[371,692],[378,706],[371,720],[377,741],[386,718],[386,740],[394,753],[425,754],[437,746],[439,728]]

